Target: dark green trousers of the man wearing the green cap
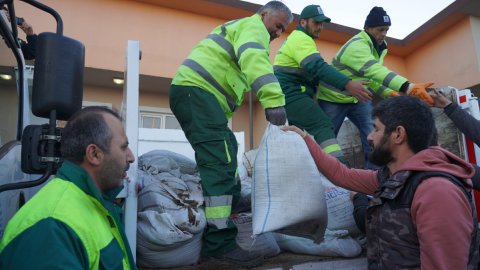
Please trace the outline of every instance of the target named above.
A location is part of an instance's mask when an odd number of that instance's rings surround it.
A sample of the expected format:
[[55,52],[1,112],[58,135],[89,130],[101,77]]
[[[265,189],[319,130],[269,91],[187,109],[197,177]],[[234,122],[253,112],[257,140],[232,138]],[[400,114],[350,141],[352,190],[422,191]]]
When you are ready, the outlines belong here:
[[346,164],[347,161],[335,138],[330,118],[308,95],[296,96],[296,98],[294,101],[286,100],[288,123],[305,129],[326,153]]

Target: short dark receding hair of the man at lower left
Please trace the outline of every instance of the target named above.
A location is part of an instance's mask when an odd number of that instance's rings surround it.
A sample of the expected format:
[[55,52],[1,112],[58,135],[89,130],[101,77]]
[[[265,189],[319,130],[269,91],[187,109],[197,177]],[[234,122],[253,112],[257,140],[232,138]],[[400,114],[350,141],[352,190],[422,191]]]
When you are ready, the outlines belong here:
[[105,114],[120,119],[116,112],[99,106],[86,107],[70,117],[62,131],[60,151],[64,159],[77,164],[83,162],[89,144],[107,153],[110,151],[113,134],[103,118]]

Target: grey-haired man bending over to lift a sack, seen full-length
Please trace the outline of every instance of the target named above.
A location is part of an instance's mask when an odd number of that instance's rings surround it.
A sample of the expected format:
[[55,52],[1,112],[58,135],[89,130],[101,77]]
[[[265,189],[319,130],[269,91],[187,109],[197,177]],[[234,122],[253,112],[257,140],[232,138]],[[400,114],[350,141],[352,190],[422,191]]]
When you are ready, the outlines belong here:
[[204,260],[244,267],[263,262],[262,256],[235,242],[237,228],[230,215],[240,194],[238,145],[227,124],[250,90],[269,122],[286,122],[285,98],[273,74],[269,46],[292,19],[285,4],[271,1],[251,17],[224,23],[195,46],[173,78],[170,108],[195,150],[202,179],[207,218]]

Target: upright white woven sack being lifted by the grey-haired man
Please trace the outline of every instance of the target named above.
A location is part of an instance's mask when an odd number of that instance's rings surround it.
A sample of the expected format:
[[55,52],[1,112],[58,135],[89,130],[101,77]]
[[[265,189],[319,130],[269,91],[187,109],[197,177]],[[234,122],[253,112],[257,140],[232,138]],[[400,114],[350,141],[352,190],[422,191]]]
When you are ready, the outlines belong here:
[[253,170],[253,233],[288,227],[289,234],[321,241],[327,226],[322,178],[303,138],[269,125]]

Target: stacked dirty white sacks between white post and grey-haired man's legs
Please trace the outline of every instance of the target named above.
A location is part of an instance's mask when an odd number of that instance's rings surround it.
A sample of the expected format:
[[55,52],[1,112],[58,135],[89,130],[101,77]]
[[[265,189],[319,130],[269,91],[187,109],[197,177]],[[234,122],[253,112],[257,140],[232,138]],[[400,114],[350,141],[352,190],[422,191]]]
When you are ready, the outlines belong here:
[[206,219],[200,176],[194,161],[167,150],[138,160],[137,262],[169,268],[200,258]]

